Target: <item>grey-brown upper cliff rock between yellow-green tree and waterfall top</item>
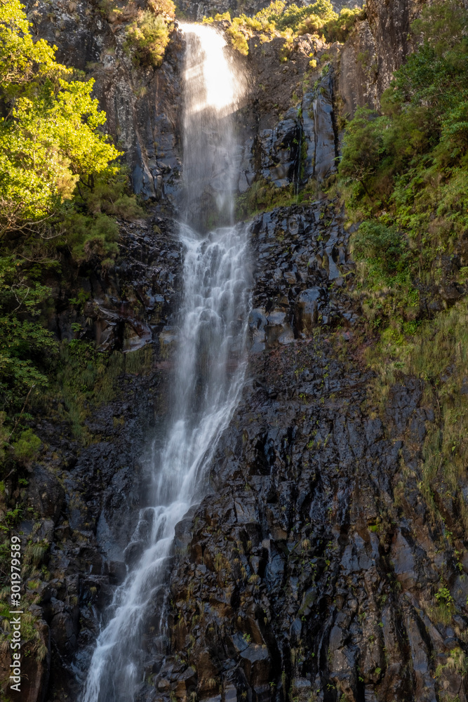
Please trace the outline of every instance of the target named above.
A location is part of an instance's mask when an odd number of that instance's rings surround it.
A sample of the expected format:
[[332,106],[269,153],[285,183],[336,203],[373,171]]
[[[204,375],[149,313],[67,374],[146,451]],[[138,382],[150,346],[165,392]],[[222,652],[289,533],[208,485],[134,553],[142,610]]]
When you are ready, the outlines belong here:
[[88,0],[39,2],[30,18],[36,33],[58,46],[58,60],[95,79],[95,93],[107,112],[107,130],[126,153],[135,192],[164,199],[167,208],[175,203],[180,178],[182,42],[174,32],[157,72],[136,69],[123,48],[123,20],[135,17],[138,4],[115,21],[105,7]]

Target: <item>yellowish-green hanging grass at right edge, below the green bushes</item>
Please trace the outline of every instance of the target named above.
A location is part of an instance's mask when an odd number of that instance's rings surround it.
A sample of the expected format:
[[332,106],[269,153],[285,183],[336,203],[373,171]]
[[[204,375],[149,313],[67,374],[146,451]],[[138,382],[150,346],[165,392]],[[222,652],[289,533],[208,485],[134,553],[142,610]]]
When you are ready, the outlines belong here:
[[[424,404],[436,410],[422,446],[418,487],[429,514],[441,524],[452,519],[457,537],[468,529],[468,509],[460,486],[468,465],[468,395],[462,392],[468,368],[468,300],[421,322],[411,335],[389,326],[367,354],[376,371],[373,402],[385,410],[389,390],[403,373],[419,378]],[[391,333],[393,332],[393,333]],[[447,501],[447,497],[450,498]],[[446,506],[444,506],[446,504]]]

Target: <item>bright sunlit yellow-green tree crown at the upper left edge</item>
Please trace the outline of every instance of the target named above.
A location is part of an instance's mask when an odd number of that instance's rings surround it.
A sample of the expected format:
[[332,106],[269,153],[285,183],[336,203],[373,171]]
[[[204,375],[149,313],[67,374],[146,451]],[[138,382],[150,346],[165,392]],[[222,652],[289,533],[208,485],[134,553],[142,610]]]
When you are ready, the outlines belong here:
[[[0,4],[0,237],[51,224],[78,180],[87,185],[119,152],[100,133],[93,81],[70,81],[45,41],[33,44],[22,6]],[[12,46],[13,45],[13,46]],[[34,227],[34,225],[36,225]]]

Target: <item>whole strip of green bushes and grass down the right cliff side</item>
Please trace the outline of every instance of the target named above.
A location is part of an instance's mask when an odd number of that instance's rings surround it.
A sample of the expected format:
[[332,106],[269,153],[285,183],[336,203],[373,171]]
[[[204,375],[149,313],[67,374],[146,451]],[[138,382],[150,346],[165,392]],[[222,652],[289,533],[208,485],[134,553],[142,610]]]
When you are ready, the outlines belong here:
[[410,374],[436,408],[419,485],[450,543],[468,524],[467,26],[457,1],[422,10],[412,27],[419,48],[381,112],[356,112],[339,168],[347,211],[361,222],[354,295],[377,338],[368,353],[375,398],[385,404],[399,374]]

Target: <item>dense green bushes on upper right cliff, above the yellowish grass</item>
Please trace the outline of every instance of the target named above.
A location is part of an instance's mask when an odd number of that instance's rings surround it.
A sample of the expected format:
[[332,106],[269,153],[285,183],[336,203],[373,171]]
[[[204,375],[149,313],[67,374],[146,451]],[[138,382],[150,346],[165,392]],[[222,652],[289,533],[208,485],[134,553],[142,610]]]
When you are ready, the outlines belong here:
[[[462,249],[468,227],[467,21],[455,0],[424,8],[414,27],[422,46],[395,72],[382,114],[357,110],[345,135],[340,185],[354,218],[368,220],[354,236],[361,290],[370,299],[377,286],[386,286],[382,294],[392,298],[392,305],[380,300],[380,312],[364,303],[373,323],[387,324],[395,315],[414,319],[415,291],[430,291],[439,282],[441,255]],[[441,29],[444,23],[450,30]],[[385,231],[401,249],[392,274],[375,257]]]

